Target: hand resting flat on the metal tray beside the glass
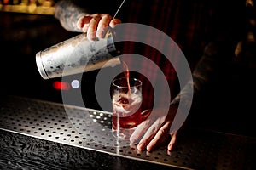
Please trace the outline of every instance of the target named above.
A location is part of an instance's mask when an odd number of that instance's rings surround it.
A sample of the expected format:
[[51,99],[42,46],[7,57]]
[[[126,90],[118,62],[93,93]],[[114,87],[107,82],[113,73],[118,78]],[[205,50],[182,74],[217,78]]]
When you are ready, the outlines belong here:
[[158,108],[155,110],[154,114],[150,115],[147,112],[149,110],[143,111],[144,115],[149,115],[146,119],[136,128],[135,132],[131,135],[131,143],[137,142],[137,150],[148,151],[154,150],[156,147],[166,144],[167,150],[172,150],[177,139],[177,131],[175,133],[170,133],[170,128],[172,121],[177,112],[177,105],[171,105],[168,114],[166,115],[166,110]]

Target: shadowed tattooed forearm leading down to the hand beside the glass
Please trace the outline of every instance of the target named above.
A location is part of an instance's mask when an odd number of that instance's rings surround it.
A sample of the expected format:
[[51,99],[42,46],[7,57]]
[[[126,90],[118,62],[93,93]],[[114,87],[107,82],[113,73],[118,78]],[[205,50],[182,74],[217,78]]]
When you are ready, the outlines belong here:
[[232,47],[224,46],[223,42],[209,43],[205,48],[204,54],[195,66],[192,73],[192,80],[190,80],[177,94],[176,98],[172,100],[172,105],[178,105],[183,101],[189,101],[191,96],[195,98],[200,94],[202,88],[205,88],[209,82],[212,81],[221,71],[224,65],[227,65],[232,59]]

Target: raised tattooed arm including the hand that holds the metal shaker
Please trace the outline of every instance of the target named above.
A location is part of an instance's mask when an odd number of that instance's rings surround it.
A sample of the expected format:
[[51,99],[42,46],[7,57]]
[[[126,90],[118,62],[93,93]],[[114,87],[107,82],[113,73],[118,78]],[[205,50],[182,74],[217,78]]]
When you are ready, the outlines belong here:
[[[114,27],[121,23],[121,20],[113,19],[108,14],[113,13],[119,3],[84,1],[85,5],[82,3],[83,7],[80,7],[79,3],[74,1],[61,0],[55,4],[55,18],[60,20],[61,26],[67,31],[86,32],[88,38],[95,39],[96,37],[104,37],[106,27]],[[96,3],[102,5],[99,6]]]

